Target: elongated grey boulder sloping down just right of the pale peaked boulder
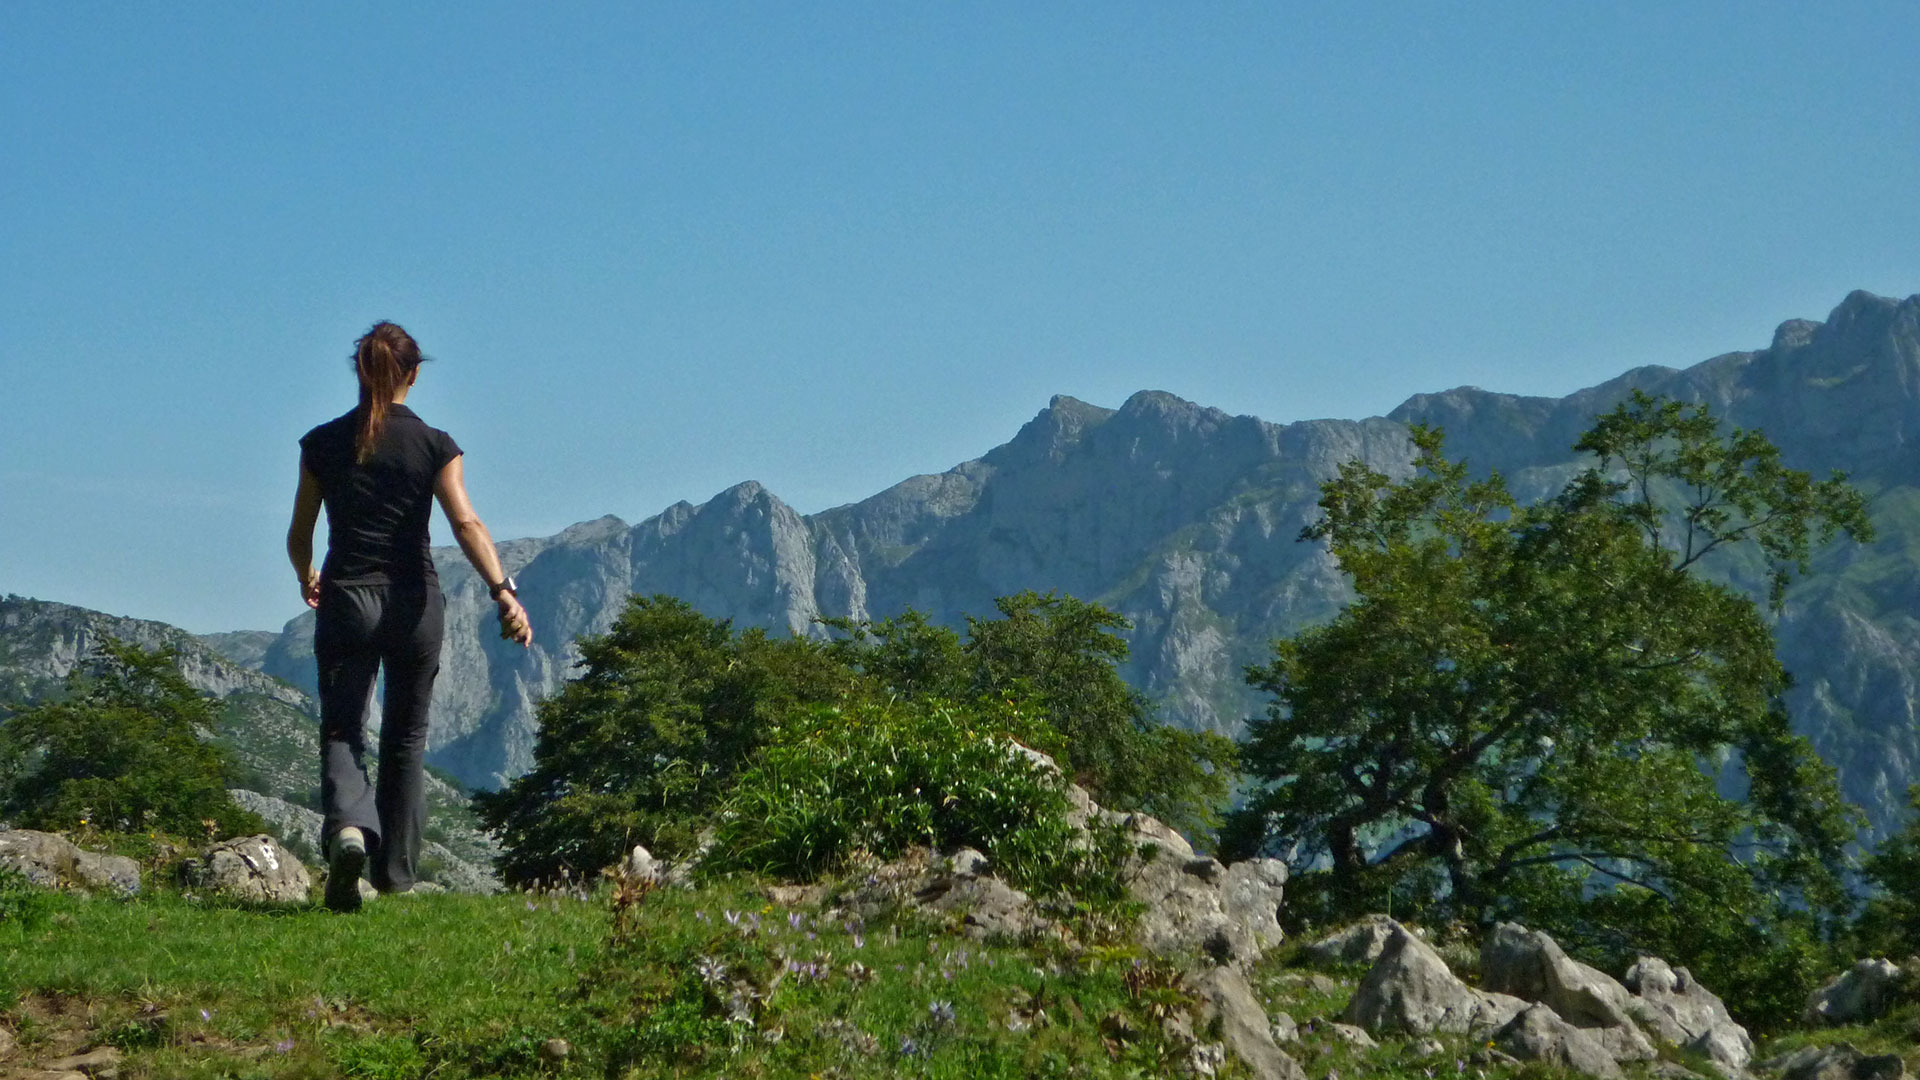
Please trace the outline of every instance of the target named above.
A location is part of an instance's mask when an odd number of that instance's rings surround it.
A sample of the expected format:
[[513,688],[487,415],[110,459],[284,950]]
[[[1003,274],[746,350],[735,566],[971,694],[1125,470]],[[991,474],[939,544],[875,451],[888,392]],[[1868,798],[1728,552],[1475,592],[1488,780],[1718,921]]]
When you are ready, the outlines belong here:
[[1584,1028],[1615,1061],[1651,1061],[1653,1043],[1634,1024],[1632,994],[1613,976],[1571,959],[1553,938],[1501,922],[1480,945],[1480,986],[1536,1001]]

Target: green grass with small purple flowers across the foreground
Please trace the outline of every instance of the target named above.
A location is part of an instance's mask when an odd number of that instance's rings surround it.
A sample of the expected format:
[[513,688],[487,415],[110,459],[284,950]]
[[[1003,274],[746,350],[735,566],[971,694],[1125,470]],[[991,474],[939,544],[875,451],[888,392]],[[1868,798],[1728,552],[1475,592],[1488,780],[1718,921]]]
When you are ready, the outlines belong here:
[[[1196,1007],[1175,965],[1131,945],[981,944],[914,915],[862,926],[770,903],[745,878],[655,890],[624,915],[609,888],[382,899],[351,917],[17,882],[0,899],[0,1026],[19,1042],[0,1068],[115,1045],[127,1078],[1158,1078],[1185,1063],[1162,1019]],[[1327,1024],[1357,972],[1300,972],[1288,951],[1250,980],[1300,1024],[1286,1049],[1313,1080],[1557,1076],[1482,1068],[1461,1038],[1352,1047]],[[1905,1009],[1763,1053],[1912,1047],[1916,1020]],[[1229,1061],[1221,1076],[1246,1072]]]

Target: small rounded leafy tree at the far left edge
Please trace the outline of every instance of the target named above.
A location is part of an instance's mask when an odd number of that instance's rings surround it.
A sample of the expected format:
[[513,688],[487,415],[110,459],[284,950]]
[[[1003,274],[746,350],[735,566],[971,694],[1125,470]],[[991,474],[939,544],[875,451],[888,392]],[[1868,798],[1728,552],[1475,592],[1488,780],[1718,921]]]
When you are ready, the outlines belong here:
[[227,796],[232,763],[204,742],[219,705],[180,676],[171,648],[106,638],[65,694],[0,724],[0,815],[35,828],[261,832]]

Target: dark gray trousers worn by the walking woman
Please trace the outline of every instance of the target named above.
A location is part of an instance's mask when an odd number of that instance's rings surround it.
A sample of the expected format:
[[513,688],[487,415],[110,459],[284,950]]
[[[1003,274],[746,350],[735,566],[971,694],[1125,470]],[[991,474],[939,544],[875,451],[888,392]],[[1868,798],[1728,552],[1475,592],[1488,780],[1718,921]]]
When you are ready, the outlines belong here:
[[[323,838],[367,834],[380,892],[413,888],[426,826],[426,707],[440,675],[445,600],[426,584],[323,584],[313,628],[321,665]],[[367,707],[386,667],[380,776],[367,778]]]

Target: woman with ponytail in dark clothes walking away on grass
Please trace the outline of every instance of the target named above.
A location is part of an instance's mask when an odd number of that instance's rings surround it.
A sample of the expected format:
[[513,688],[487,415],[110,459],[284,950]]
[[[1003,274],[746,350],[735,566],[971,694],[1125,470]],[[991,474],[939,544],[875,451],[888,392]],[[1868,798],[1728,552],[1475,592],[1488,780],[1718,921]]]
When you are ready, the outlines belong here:
[[[499,603],[501,638],[534,642],[516,586],[467,502],[461,448],[405,405],[420,346],[394,323],[353,342],[359,405],[300,440],[300,490],[286,555],[307,607],[319,611],[321,809],[326,817],[326,907],[359,907],[359,876],[407,892],[426,824],[426,705],[440,673],[444,600],[426,544],[440,500],[461,552]],[[326,563],[313,571],[313,525],[326,507]],[[367,780],[367,703],[386,667],[380,778]]]

